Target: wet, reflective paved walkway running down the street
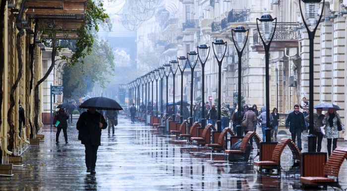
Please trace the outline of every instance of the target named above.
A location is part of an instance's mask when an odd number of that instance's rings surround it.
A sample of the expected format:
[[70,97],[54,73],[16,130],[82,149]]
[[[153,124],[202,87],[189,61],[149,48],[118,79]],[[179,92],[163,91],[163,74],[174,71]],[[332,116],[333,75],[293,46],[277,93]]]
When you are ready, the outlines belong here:
[[[76,121],[76,119],[74,119]],[[22,154],[23,167],[14,167],[14,176],[0,177],[0,191],[230,191],[300,190],[299,171],[290,176],[261,175],[253,162],[227,160],[216,153],[185,141],[153,133],[151,126],[131,123],[119,116],[116,135],[103,130],[96,175],[86,173],[84,145],[77,140],[75,124],[69,124],[68,142],[55,143],[56,129],[45,127],[45,142],[31,145]],[[260,132],[258,132],[260,133]],[[289,136],[289,135],[288,135]],[[279,135],[278,139],[284,137]],[[303,136],[303,143],[307,139]],[[326,151],[324,140],[323,150]],[[347,146],[345,142],[338,145]],[[253,152],[255,152],[254,149]],[[303,145],[303,151],[307,145]],[[258,160],[256,153],[251,157]],[[282,154],[282,168],[289,170],[290,150]],[[347,162],[343,163],[340,184],[347,188]],[[333,190],[328,188],[328,190]]]

